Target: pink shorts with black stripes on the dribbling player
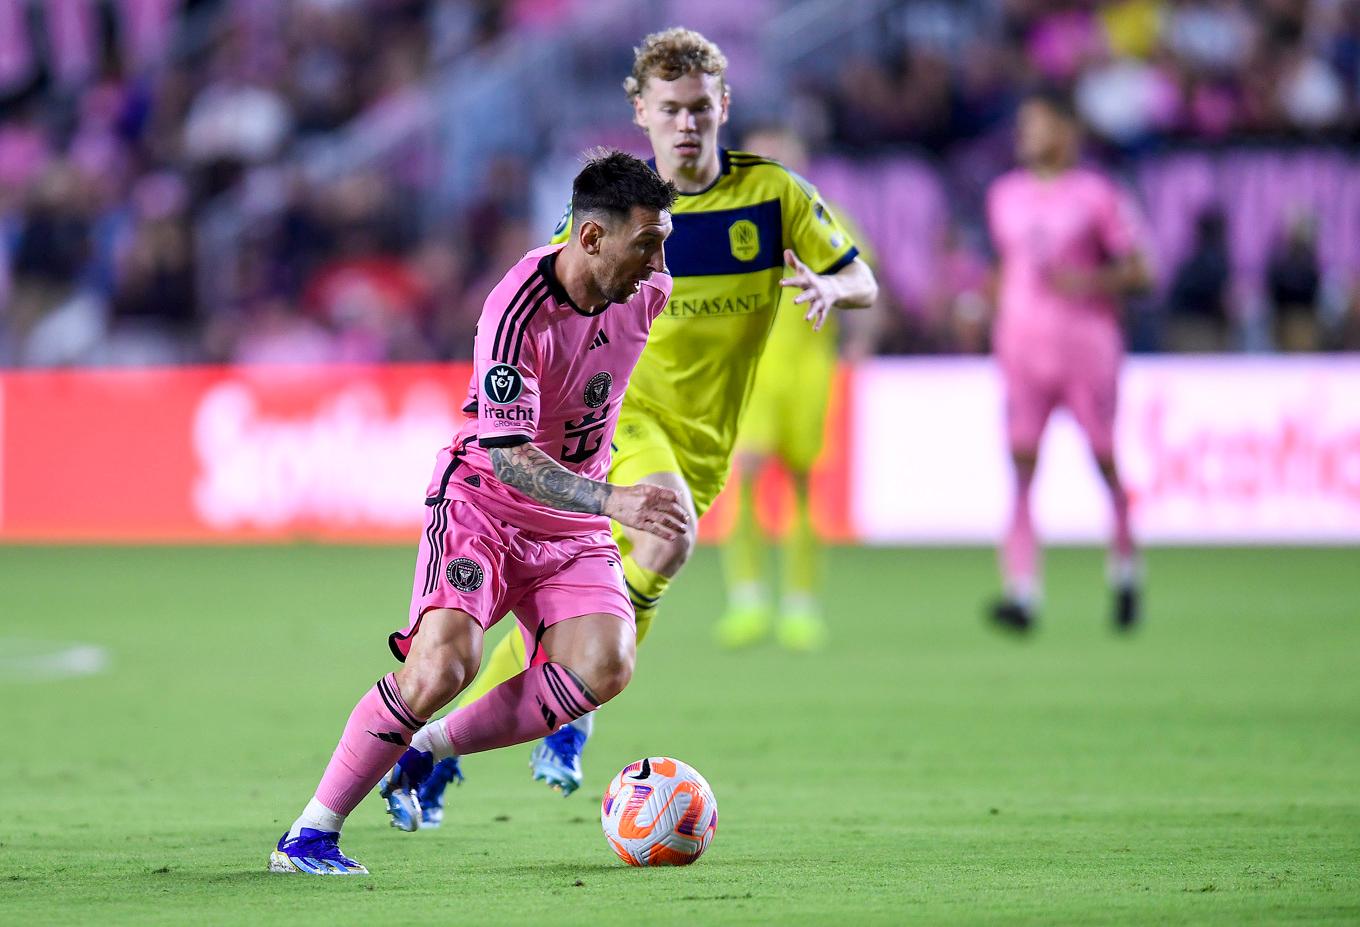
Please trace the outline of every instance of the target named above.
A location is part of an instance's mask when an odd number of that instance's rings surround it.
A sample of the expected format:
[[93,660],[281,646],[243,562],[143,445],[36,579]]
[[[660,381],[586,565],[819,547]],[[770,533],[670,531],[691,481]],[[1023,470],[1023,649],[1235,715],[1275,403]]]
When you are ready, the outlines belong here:
[[430,609],[461,609],[484,631],[513,610],[534,642],[558,621],[582,614],[635,623],[608,530],[534,534],[453,497],[426,506],[409,623],[388,639],[397,659],[405,661]]

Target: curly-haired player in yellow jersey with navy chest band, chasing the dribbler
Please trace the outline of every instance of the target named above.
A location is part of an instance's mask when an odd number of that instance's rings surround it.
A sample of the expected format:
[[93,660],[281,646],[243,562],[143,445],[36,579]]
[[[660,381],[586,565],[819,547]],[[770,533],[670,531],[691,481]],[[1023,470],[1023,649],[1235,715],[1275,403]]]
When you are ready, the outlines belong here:
[[[699,517],[728,478],[781,287],[801,291],[794,309],[813,329],[832,309],[873,304],[879,290],[812,185],[778,162],[718,147],[730,102],[726,67],[703,35],[669,29],[642,41],[624,82],[634,122],[651,143],[650,163],[680,197],[665,249],[675,290],[623,398],[609,478],[675,489],[691,515],[688,531],[675,541],[631,530],[616,536],[638,643],[694,549]],[[568,212],[554,241],[570,228]],[[533,648],[511,629],[460,704],[524,671]],[[593,714],[541,741],[533,750],[534,779],[575,791],[592,723]],[[426,826],[442,817],[443,787],[458,777],[453,763],[441,765],[419,797]]]

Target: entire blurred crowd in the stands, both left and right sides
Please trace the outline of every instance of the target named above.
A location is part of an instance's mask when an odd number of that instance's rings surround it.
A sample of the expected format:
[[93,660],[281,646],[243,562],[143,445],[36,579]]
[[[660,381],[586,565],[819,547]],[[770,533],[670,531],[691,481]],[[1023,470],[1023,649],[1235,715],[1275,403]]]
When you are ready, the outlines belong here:
[[[496,155],[473,201],[434,220],[419,158],[322,178],[295,155],[582,3],[0,0],[0,366],[468,356],[483,295],[544,237],[541,152]],[[869,50],[801,80],[801,122],[835,152],[928,152],[945,185],[1008,164],[1016,95],[1040,83],[1073,92],[1115,164],[1168,141],[1360,129],[1352,0],[918,0],[873,29]],[[204,219],[261,171],[273,205],[228,260]],[[979,198],[960,193],[934,290],[884,310],[880,351],[986,349]],[[1355,275],[1322,270],[1315,220],[1280,230],[1265,313],[1240,306],[1224,222],[1197,220],[1136,347],[1360,349]],[[1254,343],[1253,315],[1270,329]]]

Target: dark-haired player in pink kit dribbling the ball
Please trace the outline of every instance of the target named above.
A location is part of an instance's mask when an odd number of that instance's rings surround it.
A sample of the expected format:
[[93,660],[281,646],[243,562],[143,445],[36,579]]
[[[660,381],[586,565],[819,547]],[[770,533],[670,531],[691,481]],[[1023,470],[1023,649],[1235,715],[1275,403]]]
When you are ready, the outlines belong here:
[[[539,739],[628,684],[634,613],[609,519],[665,540],[688,523],[675,491],[604,481],[628,377],[670,295],[675,197],[630,155],[594,158],[573,185],[573,237],[529,251],[487,296],[469,417],[437,459],[409,621],[389,637],[403,666],[350,715],[272,871],[367,873],[340,852],[340,828],[394,763],[384,795],[419,816],[412,787],[434,760]],[[537,642],[533,665],[422,730],[511,609]]]

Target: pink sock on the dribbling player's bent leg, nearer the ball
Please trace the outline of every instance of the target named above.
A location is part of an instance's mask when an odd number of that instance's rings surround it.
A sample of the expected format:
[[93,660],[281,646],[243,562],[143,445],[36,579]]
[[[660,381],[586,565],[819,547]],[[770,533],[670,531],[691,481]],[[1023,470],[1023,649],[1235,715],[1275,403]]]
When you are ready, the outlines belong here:
[[562,663],[530,666],[441,724],[454,753],[480,753],[552,734],[598,705],[590,689]]

